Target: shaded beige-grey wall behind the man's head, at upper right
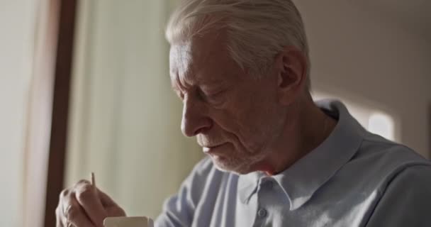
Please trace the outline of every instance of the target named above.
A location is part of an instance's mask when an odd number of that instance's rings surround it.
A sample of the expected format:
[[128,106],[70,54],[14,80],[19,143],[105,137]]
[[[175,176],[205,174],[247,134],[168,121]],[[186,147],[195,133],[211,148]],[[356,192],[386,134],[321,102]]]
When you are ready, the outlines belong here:
[[430,157],[431,40],[351,1],[296,1],[310,42],[312,87],[398,119],[400,139]]

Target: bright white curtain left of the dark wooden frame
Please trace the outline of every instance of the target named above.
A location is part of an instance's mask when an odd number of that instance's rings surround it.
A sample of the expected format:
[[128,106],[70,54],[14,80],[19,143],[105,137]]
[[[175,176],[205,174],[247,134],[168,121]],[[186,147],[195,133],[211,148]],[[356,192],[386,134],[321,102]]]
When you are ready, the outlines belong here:
[[0,226],[43,226],[57,9],[0,1]]

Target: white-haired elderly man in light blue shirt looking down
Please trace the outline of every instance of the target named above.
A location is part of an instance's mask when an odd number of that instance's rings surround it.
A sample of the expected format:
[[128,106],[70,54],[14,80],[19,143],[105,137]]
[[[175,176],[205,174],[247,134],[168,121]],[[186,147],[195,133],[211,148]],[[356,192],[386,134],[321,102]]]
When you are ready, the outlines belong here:
[[[156,226],[430,226],[431,165],[314,103],[303,21],[289,0],[186,0],[167,27],[181,130],[208,157]],[[125,212],[78,182],[57,226]]]

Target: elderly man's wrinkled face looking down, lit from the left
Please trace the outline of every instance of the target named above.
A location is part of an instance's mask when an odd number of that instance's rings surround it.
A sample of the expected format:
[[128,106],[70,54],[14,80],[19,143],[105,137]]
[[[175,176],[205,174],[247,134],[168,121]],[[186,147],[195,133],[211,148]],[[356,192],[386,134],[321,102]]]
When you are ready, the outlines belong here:
[[245,174],[262,164],[284,126],[276,73],[254,79],[230,58],[223,38],[209,36],[172,45],[170,74],[184,105],[181,131],[196,135],[219,170]]

